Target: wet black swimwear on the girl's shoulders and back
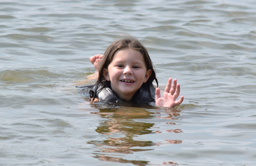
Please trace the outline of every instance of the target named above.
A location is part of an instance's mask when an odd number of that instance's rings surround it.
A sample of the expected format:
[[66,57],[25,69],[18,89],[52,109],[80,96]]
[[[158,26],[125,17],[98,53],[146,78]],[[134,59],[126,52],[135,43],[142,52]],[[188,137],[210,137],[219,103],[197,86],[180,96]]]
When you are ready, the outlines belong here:
[[[78,88],[87,88],[84,91],[89,91],[88,89],[91,88],[91,86],[83,86],[83,87],[78,87]],[[82,91],[83,91],[82,89]],[[91,98],[93,97],[93,94],[95,92],[95,87],[92,88],[92,95]],[[144,84],[136,91],[136,93],[132,96],[131,102],[132,103],[138,103],[138,102],[154,102],[155,101],[155,87],[153,85],[150,86],[150,89],[146,87]],[[108,103],[123,103],[127,102],[122,100],[117,96],[117,94],[111,90],[111,87],[109,84],[107,85],[102,85],[100,84],[97,89],[97,98],[99,99],[99,102],[108,102]]]

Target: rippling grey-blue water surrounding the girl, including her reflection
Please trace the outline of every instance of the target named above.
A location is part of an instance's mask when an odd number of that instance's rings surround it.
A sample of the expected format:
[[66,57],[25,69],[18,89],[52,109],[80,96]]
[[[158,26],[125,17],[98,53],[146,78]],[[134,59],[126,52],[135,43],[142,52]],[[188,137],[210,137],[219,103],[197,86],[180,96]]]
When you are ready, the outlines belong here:
[[[0,2],[0,165],[256,165],[254,0]],[[175,109],[109,107],[76,85],[139,38]]]

